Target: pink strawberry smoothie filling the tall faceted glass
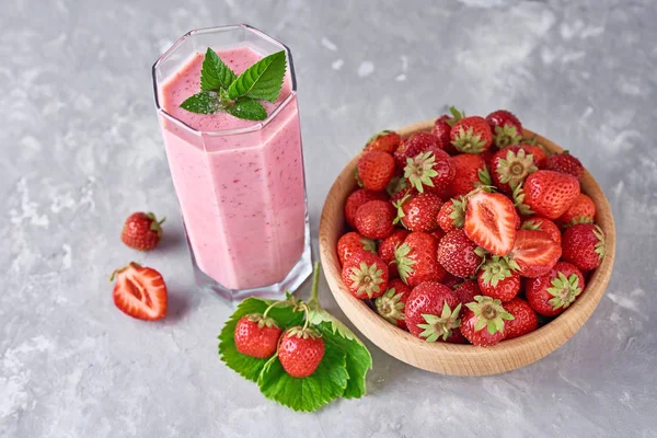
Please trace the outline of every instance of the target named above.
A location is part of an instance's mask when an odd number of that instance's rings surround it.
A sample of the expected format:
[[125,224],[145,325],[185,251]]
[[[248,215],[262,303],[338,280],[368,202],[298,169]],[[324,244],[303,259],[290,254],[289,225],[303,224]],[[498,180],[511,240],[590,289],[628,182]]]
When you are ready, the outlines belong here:
[[[263,57],[249,47],[217,54],[238,76]],[[288,74],[278,101],[264,103],[267,120],[187,112],[180,104],[199,91],[203,59],[203,54],[193,56],[159,90],[166,113],[201,131],[161,116],[194,258],[203,273],[229,289],[279,283],[304,249],[306,191],[297,96]],[[240,128],[245,131],[226,132]]]

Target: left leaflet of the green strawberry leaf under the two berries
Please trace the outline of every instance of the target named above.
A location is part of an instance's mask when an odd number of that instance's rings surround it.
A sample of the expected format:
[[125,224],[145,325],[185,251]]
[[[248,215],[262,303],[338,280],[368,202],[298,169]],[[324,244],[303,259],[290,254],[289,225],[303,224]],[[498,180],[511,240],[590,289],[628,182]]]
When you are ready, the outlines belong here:
[[[247,298],[238,306],[235,312],[230,316],[221,334],[219,334],[219,355],[221,360],[233,371],[252,382],[257,378],[269,359],[257,359],[238,351],[234,341],[235,325],[238,321],[250,313],[263,313],[274,301],[260,298]],[[299,325],[303,322],[303,314],[295,312],[292,307],[280,307],[269,310],[267,316],[270,316],[280,327]]]

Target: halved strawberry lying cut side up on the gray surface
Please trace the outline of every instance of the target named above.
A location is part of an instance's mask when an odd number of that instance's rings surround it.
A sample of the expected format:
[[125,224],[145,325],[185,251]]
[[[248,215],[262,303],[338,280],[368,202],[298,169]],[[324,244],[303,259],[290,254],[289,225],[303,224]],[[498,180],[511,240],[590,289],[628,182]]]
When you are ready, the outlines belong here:
[[162,275],[151,267],[135,262],[116,269],[114,306],[125,314],[139,320],[157,321],[166,315],[166,285]]

